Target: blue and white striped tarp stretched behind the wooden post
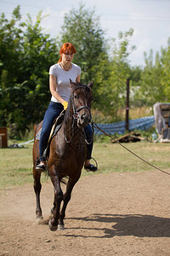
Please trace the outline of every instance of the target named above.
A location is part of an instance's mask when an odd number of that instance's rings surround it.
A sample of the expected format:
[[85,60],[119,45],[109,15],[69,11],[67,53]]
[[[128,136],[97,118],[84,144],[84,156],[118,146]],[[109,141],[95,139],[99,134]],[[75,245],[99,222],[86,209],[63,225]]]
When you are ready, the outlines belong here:
[[[132,119],[132,120],[129,120],[129,131],[134,131],[134,130],[147,131],[154,124],[155,124],[154,115],[144,117],[141,119]],[[105,131],[108,134],[125,133],[125,121],[112,123],[112,124],[97,124],[97,125],[101,130]],[[94,128],[94,133],[103,134],[101,131],[99,131],[96,128]]]

